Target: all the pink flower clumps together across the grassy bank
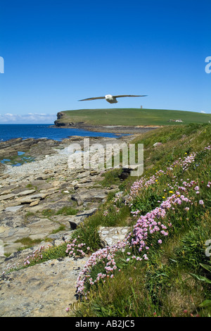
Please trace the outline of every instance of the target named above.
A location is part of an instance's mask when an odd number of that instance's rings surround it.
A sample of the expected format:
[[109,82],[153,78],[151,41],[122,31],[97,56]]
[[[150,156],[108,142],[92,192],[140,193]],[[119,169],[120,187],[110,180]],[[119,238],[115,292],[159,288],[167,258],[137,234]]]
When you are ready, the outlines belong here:
[[[205,147],[205,149],[210,150],[211,146]],[[159,177],[164,174],[168,175],[169,171],[172,171],[172,167],[181,166],[181,168],[186,171],[188,170],[189,165],[195,161],[196,153],[193,153],[189,156],[186,156],[185,158],[179,158],[179,160],[172,163],[171,167],[168,167],[166,172],[163,170],[159,170],[156,172],[155,175],[151,176],[149,179],[146,178],[146,176],[141,177],[140,180],[137,180],[132,185],[129,196],[127,201],[125,201],[125,204],[128,204],[129,206],[132,206],[132,203],[134,199],[136,199],[137,196],[139,196],[142,189],[146,189],[147,187],[150,187],[151,185],[155,185],[156,182],[158,182]],[[171,176],[172,177],[172,176]],[[200,188],[198,185],[198,182],[195,180],[189,180],[186,181],[181,180],[182,186],[179,185],[178,182],[175,182],[176,176],[172,177],[172,185],[167,184],[169,186],[169,189],[174,189],[174,192],[170,191],[171,194],[167,198],[165,198],[165,201],[162,201],[160,206],[153,209],[152,211],[146,213],[146,215],[140,216],[140,211],[132,211],[132,214],[134,217],[138,217],[138,220],[136,222],[136,225],[134,225],[134,228],[132,232],[125,237],[125,239],[122,242],[118,242],[114,246],[106,246],[104,249],[99,249],[98,251],[94,252],[88,259],[87,263],[85,264],[83,270],[79,273],[79,277],[77,279],[77,293],[78,294],[85,294],[85,284],[94,285],[99,280],[103,280],[103,282],[106,281],[106,278],[110,277],[113,278],[114,271],[117,270],[116,262],[115,262],[115,256],[117,252],[122,251],[124,252],[125,249],[132,249],[137,248],[139,250],[139,254],[143,254],[142,256],[135,256],[131,255],[131,251],[127,251],[127,258],[125,259],[126,262],[129,262],[130,259],[136,261],[141,260],[148,260],[148,250],[150,249],[149,246],[147,246],[147,241],[150,237],[150,235],[153,235],[155,233],[158,234],[157,242],[158,244],[162,244],[162,239],[167,237],[169,235],[169,230],[172,228],[172,223],[168,219],[168,211],[175,211],[175,208],[179,206],[184,205],[184,210],[186,212],[189,211],[191,205],[193,205],[193,200],[189,199],[189,190],[192,189],[193,192],[196,192],[197,194],[200,192]],[[207,187],[210,187],[211,182],[207,183]],[[165,192],[167,190],[165,189]],[[116,201],[118,201],[119,196],[116,196]],[[198,201],[200,205],[203,205],[203,200]],[[106,215],[108,213],[106,212]],[[106,216],[105,215],[105,216]],[[93,279],[91,277],[91,270],[96,266],[99,262],[103,264],[103,271],[101,273],[98,273],[96,275],[96,279]],[[120,270],[119,270],[120,271]]]

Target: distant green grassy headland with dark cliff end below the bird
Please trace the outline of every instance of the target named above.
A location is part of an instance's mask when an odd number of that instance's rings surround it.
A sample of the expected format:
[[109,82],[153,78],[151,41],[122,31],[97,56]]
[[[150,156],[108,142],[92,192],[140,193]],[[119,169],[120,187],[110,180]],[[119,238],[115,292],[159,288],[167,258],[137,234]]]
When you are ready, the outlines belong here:
[[79,109],[58,114],[58,123],[87,125],[174,125],[175,122],[169,120],[182,120],[184,124],[211,121],[211,114],[146,108]]

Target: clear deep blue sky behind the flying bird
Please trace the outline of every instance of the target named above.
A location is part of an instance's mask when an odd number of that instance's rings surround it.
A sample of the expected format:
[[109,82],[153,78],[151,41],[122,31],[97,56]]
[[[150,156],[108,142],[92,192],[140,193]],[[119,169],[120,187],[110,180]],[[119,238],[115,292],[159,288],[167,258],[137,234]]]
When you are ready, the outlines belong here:
[[[211,113],[210,0],[1,1],[0,123],[79,108]],[[148,94],[105,100],[106,94]]]

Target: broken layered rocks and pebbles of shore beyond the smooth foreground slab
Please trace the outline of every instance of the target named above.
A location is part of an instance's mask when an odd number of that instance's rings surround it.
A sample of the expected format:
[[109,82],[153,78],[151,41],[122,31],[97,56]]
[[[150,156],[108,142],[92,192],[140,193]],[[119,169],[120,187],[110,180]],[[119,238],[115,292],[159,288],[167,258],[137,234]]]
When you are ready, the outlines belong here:
[[[118,139],[89,138],[90,145],[96,142],[102,145],[108,142],[128,142],[129,139],[131,137],[128,136]],[[29,227],[33,224],[34,228],[37,222],[41,226],[43,211],[57,212],[65,206],[72,206],[81,213],[84,210],[96,208],[108,194],[108,189],[100,185],[103,180],[101,169],[85,170],[68,167],[68,146],[71,143],[83,146],[84,137],[63,139],[62,142],[48,139],[32,140],[13,139],[12,142],[10,141],[10,147],[6,147],[8,142],[0,144],[1,158],[4,150],[7,157],[17,154],[17,151],[27,151],[27,155],[34,158],[34,161],[20,166],[4,164],[4,169],[0,173],[0,239],[5,242],[7,254],[23,246],[14,243],[16,239],[27,235],[32,239],[47,235],[45,231],[42,231],[42,234],[38,234],[39,232],[36,234],[36,231],[29,230]],[[110,187],[110,189],[116,189],[116,187]],[[51,217],[51,221],[44,218],[44,227],[49,228],[49,232],[55,230],[59,224],[70,228],[69,218],[55,215]],[[46,225],[47,223],[49,224]],[[39,226],[37,226],[38,229]],[[16,235],[15,232],[17,232]]]

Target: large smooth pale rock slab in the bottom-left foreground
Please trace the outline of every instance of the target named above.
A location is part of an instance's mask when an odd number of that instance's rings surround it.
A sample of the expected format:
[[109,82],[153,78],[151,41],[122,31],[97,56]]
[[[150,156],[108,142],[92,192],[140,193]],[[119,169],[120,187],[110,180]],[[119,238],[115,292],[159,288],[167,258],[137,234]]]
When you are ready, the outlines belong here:
[[64,317],[76,301],[77,277],[88,257],[66,257],[1,277],[1,317]]

